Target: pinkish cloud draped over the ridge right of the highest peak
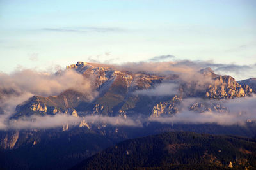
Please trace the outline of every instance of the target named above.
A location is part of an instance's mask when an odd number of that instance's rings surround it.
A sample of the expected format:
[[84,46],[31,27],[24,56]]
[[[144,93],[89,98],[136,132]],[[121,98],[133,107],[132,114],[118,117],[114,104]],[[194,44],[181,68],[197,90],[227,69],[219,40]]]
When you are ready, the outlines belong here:
[[209,84],[214,82],[211,76],[205,77],[203,74],[198,72],[200,69],[202,69],[202,67],[196,65],[194,62],[189,62],[191,61],[137,62],[126,63],[113,67],[124,71],[130,71],[132,73],[145,73],[164,76],[166,79],[170,80],[169,83],[186,85],[187,92],[204,90],[209,86]]

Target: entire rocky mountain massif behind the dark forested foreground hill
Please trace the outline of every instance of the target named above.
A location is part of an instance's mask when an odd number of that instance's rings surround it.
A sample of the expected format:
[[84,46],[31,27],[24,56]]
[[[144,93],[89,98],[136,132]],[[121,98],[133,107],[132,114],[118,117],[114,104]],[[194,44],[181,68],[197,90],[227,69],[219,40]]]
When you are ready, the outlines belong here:
[[[0,87],[0,120],[4,121],[0,127],[3,123],[7,125],[0,131],[0,167],[68,169],[121,141],[163,132],[256,136],[255,120],[239,112],[239,117],[235,116],[246,119],[242,124],[232,122],[237,121],[228,120],[234,109],[227,106],[237,99],[253,99],[250,96],[255,91],[246,82],[237,83],[231,76],[215,74],[210,68],[184,75],[77,62],[52,78],[60,78],[68,71],[88,81],[90,91],[69,88],[54,96],[34,95],[15,104],[9,117],[6,117],[6,108],[10,109],[6,101],[21,96],[22,90],[13,89],[15,86]],[[186,120],[194,117],[204,120],[212,114],[213,119],[217,117],[224,124],[168,120],[182,117],[186,112],[192,115],[183,116]],[[74,118],[75,123],[59,122]]]

